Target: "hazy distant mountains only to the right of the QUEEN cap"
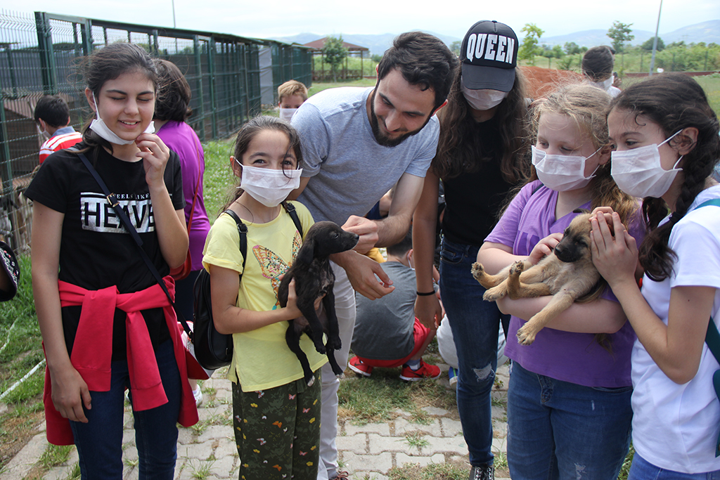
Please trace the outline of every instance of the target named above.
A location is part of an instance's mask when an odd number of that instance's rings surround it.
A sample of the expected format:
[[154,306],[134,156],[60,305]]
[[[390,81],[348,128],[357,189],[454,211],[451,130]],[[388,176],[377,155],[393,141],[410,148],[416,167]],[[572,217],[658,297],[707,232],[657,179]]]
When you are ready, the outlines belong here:
[[[540,43],[545,45],[565,45],[566,42],[575,42],[581,47],[595,47],[596,45],[610,45],[612,41],[607,36],[608,30],[583,30],[582,32],[557,35],[554,37],[542,37]],[[647,30],[633,30],[635,38],[631,45],[642,45],[647,39],[652,38],[655,32]],[[659,33],[665,45],[672,42],[684,41],[685,43],[720,43],[720,20],[708,20],[707,22],[688,25],[687,27],[673,30],[672,32]]]

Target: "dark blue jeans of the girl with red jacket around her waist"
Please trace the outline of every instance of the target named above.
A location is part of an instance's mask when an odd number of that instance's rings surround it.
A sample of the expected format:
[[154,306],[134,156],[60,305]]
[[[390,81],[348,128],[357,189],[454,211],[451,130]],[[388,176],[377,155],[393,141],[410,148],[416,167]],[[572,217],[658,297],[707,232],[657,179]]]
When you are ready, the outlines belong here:
[[[135,416],[140,480],[172,480],[177,458],[181,383],[171,340],[155,353],[168,403]],[[130,386],[127,361],[112,362],[109,391],[91,391],[92,408],[85,409],[87,423],[70,422],[78,448],[83,480],[122,479],[122,415],[125,389]]]

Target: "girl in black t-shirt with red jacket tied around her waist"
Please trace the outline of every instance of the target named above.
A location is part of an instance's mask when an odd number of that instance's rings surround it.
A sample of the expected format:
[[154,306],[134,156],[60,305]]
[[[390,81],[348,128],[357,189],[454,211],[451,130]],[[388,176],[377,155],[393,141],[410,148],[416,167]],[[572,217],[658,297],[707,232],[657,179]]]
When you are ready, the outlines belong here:
[[[153,60],[137,45],[108,45],[86,59],[84,78],[96,118],[77,148],[166,275],[185,260],[188,237],[177,156],[152,133]],[[197,422],[197,408],[168,299],[76,152],[50,155],[27,196],[48,440],[76,444],[83,479],[119,479],[130,389],[140,479],[172,479],[176,422]]]

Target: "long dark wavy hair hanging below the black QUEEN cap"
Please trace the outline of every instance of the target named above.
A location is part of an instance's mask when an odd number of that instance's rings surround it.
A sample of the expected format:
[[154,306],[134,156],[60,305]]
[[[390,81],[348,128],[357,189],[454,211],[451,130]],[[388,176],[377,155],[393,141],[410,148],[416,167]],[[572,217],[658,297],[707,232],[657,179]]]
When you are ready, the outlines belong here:
[[[487,157],[487,147],[475,134],[476,122],[460,89],[461,74],[455,77],[448,95],[448,104],[438,112],[440,139],[433,158],[433,171],[440,178],[454,178],[461,173],[477,172],[483,163],[492,161]],[[527,107],[525,78],[519,68],[515,69],[515,83],[508,96],[498,106],[493,122],[498,122],[503,156],[500,171],[510,184],[517,184],[528,176],[529,162],[526,158]]]

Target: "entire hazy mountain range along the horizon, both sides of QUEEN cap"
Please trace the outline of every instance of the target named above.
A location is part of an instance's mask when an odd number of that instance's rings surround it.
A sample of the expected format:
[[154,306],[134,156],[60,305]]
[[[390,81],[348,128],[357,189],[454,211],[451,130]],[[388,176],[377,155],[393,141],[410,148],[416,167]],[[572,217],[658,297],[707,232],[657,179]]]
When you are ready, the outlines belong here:
[[[434,32],[428,32],[432,35],[436,35],[440,40],[445,42],[448,46],[452,42],[462,40],[462,38],[451,37],[449,35],[440,35]],[[610,38],[607,36],[608,30],[595,29],[595,30],[582,30],[581,32],[569,33],[567,35],[556,35],[554,37],[542,37],[540,39],[541,44],[545,45],[565,45],[567,42],[575,42],[581,47],[595,47],[595,45],[610,45]],[[340,35],[340,34],[338,34]],[[368,47],[370,49],[370,55],[382,55],[385,50],[390,48],[392,40],[397,34],[384,33],[382,35],[343,35],[343,40],[346,42],[354,43],[355,45],[361,45],[362,47]],[[647,39],[652,38],[654,32],[648,30],[633,30],[632,35],[635,38],[631,45],[641,45]],[[706,42],[706,43],[720,43],[720,20],[708,20],[707,22],[701,22],[687,27],[673,30],[672,32],[665,32],[659,34],[665,45],[672,42],[692,43],[692,42]],[[318,35],[315,33],[300,33],[293,35],[292,37],[275,37],[273,40],[280,40],[281,42],[288,43],[300,43],[305,44],[312,42],[312,40],[318,40],[319,38],[327,37],[327,35]],[[522,42],[522,39],[520,39]]]

